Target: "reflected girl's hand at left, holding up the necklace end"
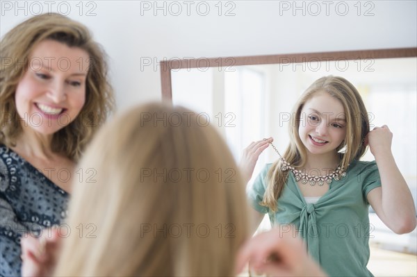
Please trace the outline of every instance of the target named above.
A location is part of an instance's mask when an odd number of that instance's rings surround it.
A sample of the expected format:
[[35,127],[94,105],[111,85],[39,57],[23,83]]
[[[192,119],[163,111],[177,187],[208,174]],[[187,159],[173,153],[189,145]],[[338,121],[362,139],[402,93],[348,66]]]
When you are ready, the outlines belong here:
[[240,159],[240,170],[243,174],[243,181],[245,183],[250,181],[252,174],[254,173],[256,162],[258,161],[259,155],[263,150],[267,149],[269,142],[272,142],[274,139],[272,137],[264,140],[259,140],[257,142],[252,142],[245,148],[243,151],[243,156]]

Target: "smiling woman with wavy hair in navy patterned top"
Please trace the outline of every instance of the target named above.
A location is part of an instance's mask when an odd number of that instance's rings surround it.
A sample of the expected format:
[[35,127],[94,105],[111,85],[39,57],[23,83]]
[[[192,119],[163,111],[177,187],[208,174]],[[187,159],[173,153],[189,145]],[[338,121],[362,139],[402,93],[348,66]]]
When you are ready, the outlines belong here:
[[72,178],[88,173],[76,162],[113,90],[104,51],[62,15],[32,17],[0,45],[0,276],[19,276],[20,237],[64,219]]

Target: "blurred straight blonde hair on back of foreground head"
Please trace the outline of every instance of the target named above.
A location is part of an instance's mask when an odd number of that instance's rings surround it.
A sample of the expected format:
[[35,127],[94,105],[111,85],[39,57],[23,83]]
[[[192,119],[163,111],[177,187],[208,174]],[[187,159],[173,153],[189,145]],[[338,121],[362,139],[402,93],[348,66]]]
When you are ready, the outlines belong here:
[[80,167],[90,179],[74,184],[56,276],[234,274],[245,189],[227,145],[194,112],[134,108],[99,131]]

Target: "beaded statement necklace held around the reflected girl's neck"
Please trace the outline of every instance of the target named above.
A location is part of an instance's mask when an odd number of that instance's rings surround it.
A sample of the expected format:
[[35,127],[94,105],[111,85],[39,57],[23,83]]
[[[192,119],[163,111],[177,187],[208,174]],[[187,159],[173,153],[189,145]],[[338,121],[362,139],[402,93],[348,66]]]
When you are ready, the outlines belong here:
[[[266,140],[266,139],[263,139]],[[295,169],[294,167],[292,167],[290,165],[289,162],[287,162],[279,153],[278,149],[275,147],[274,144],[272,144],[272,142],[270,142],[268,140],[268,143],[271,144],[272,148],[275,150],[275,152],[278,153],[279,158],[281,159],[281,170],[282,171],[287,171],[288,169],[290,169],[291,171],[293,171],[293,174],[295,176],[295,181],[300,181],[303,184],[309,183],[310,185],[316,185],[316,183],[318,183],[318,185],[324,185],[325,182],[330,184],[332,183],[333,179],[336,181],[339,181],[341,179],[341,177],[345,177],[346,176],[346,172],[343,170],[342,167],[338,166],[336,168],[335,171],[333,171],[332,173],[326,174],[325,176],[311,176],[309,174],[305,174],[302,173],[302,171]]]

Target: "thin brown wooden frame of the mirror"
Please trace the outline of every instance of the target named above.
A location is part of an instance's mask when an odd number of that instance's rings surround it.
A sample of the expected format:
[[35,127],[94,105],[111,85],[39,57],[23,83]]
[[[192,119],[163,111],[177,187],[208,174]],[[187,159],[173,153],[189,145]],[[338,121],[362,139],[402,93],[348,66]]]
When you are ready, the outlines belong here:
[[319,62],[333,60],[372,60],[382,58],[417,57],[417,48],[373,49],[357,51],[336,51],[318,53],[293,53],[269,56],[240,56],[227,58],[172,59],[163,60],[161,65],[162,99],[172,103],[172,69],[190,69],[208,67],[233,67],[239,65],[270,65],[293,62]]

